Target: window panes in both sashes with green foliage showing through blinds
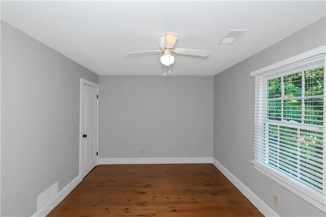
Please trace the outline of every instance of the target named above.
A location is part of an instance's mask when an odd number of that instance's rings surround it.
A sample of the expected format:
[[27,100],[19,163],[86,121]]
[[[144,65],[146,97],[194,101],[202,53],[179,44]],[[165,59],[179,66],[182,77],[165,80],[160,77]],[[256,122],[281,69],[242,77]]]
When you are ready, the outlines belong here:
[[268,164],[320,190],[323,94],[324,67],[269,79],[265,125]]

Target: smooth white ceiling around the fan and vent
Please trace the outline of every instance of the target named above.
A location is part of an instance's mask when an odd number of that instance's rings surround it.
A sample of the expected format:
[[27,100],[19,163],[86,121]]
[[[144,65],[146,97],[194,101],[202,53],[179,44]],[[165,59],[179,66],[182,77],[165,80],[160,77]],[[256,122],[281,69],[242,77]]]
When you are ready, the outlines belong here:
[[[1,1],[1,19],[99,75],[162,75],[165,32],[176,48],[209,50],[207,58],[175,55],[172,75],[214,75],[326,15],[325,2],[303,1]],[[249,30],[233,45],[231,29]]]

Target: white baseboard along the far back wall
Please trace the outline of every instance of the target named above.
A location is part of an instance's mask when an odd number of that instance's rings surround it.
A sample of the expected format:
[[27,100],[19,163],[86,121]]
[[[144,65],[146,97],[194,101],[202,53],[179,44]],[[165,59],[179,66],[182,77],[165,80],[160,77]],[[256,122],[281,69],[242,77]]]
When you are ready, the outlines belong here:
[[99,158],[98,164],[212,164],[212,157]]

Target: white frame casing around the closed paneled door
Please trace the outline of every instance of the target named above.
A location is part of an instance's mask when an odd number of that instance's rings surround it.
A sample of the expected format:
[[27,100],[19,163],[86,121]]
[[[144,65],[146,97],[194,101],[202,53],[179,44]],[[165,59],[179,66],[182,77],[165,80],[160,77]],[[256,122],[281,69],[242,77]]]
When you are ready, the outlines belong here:
[[[86,80],[84,78],[80,78],[80,87],[79,87],[79,177],[81,179],[84,179],[82,177],[82,88],[83,85],[88,85],[91,87],[96,88],[96,94],[98,95],[99,85],[95,84],[93,82],[90,82],[89,80]],[[98,152],[98,98],[96,100],[97,102],[97,111],[96,111],[96,152]],[[98,155],[96,157],[96,165],[98,165]]]

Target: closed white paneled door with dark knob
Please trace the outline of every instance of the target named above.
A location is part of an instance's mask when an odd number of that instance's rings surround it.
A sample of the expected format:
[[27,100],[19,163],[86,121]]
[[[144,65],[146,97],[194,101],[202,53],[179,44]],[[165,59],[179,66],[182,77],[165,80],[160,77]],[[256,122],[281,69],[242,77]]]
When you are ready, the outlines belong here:
[[98,85],[80,78],[79,166],[84,178],[97,165]]

